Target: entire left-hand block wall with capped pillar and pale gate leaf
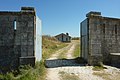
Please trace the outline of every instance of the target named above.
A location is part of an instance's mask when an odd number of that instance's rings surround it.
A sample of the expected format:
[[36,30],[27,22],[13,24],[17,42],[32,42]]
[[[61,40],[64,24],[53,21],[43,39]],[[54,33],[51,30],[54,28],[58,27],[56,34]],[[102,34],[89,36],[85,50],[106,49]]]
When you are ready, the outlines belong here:
[[41,60],[41,20],[33,7],[0,11],[0,72]]

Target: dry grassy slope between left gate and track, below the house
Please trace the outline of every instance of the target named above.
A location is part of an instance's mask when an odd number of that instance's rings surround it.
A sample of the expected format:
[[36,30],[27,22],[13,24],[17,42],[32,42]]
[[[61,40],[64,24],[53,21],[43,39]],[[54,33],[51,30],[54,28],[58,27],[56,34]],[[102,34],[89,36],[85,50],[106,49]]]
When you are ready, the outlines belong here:
[[68,44],[61,43],[53,38],[43,37],[42,39],[42,52],[43,59],[49,58],[55,51],[67,46]]

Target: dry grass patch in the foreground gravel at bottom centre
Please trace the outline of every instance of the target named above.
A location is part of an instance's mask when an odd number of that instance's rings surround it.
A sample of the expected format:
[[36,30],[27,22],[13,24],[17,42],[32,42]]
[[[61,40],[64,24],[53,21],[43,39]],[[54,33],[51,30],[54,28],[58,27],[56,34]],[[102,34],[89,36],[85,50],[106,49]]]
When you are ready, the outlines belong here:
[[65,73],[63,71],[59,72],[60,74],[60,80],[79,80],[79,77],[76,76],[75,74],[69,74]]

